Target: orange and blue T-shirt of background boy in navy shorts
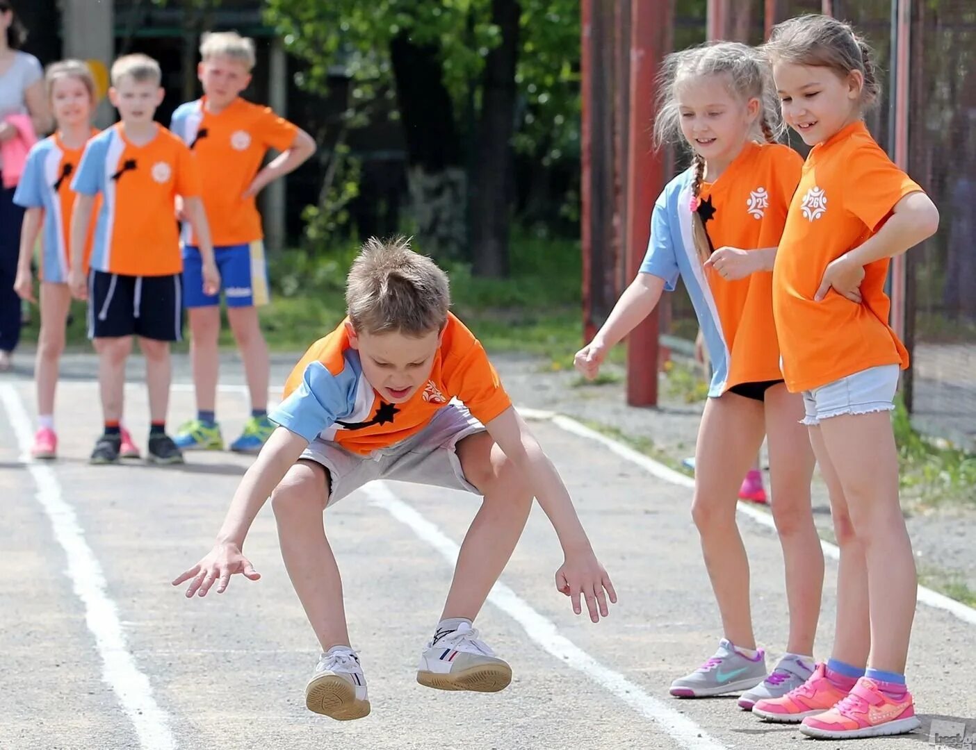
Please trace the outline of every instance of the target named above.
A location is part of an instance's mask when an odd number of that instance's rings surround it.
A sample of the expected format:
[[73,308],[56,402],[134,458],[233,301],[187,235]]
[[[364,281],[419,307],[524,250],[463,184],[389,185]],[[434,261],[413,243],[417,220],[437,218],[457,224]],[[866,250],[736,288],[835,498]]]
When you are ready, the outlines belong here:
[[200,195],[189,149],[162,126],[144,145],[125,136],[122,123],[88,141],[71,189],[102,194],[91,267],[125,276],[169,276],[183,271],[177,195]]

